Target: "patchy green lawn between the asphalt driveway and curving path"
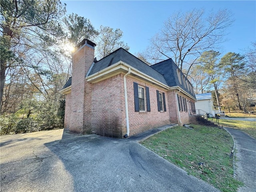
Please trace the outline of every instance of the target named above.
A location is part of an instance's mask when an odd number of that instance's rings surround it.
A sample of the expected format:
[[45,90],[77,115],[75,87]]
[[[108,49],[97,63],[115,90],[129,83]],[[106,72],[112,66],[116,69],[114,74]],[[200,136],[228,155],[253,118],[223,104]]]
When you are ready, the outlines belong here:
[[[193,125],[190,130],[176,126],[156,134],[142,145],[223,192],[234,192],[242,183],[233,178],[234,146],[225,130]],[[200,163],[203,163],[200,165]]]

